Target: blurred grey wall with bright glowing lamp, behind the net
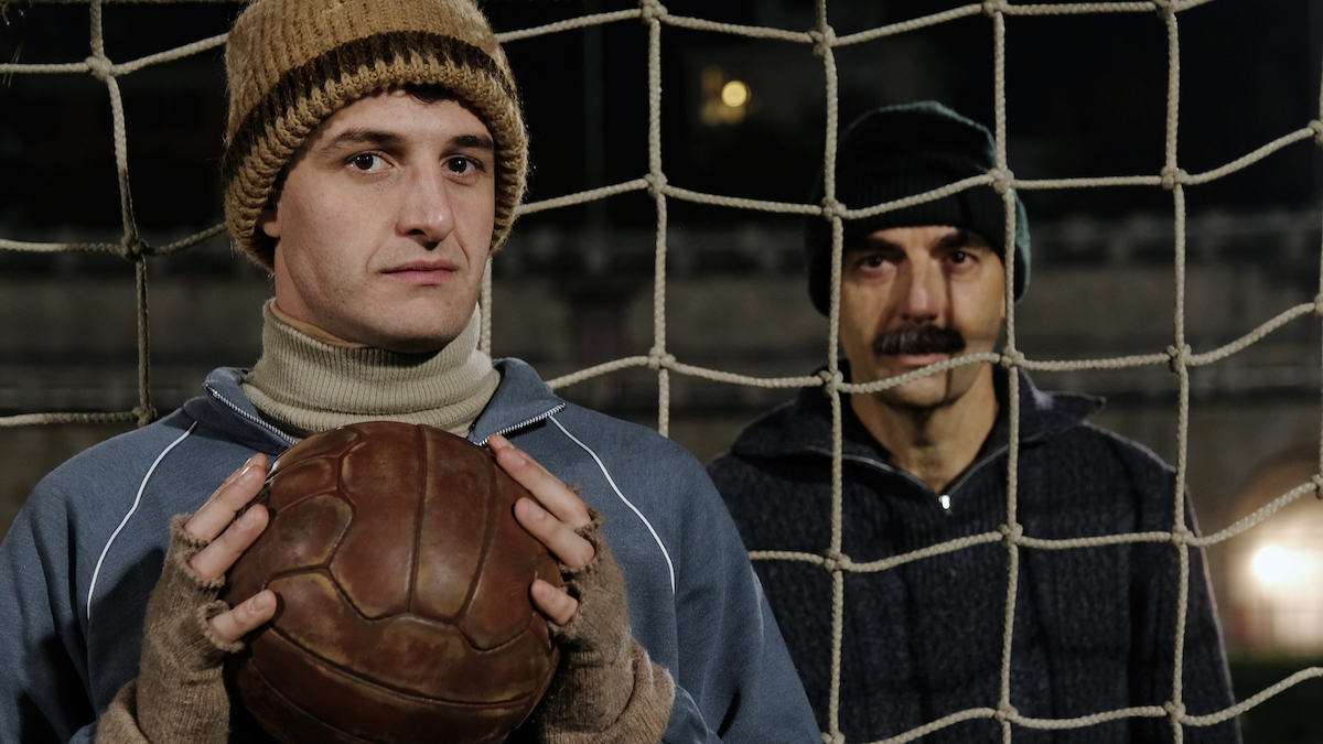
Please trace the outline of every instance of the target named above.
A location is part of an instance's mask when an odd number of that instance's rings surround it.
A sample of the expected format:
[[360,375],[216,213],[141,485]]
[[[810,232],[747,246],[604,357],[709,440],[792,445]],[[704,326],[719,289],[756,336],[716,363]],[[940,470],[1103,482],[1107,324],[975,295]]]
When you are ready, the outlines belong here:
[[[1314,301],[1319,253],[1308,246],[1323,244],[1320,221],[1316,210],[1191,220],[1185,328],[1196,352]],[[1170,221],[1147,216],[1035,222],[1033,279],[1016,307],[1019,348],[1035,360],[1163,351],[1175,298],[1170,232]],[[601,257],[585,253],[585,244],[602,237],[554,225],[516,228],[496,261],[496,356],[523,357],[550,379],[648,353],[655,236],[610,234]],[[807,302],[796,229],[677,228],[668,256],[667,351],[680,361],[759,377],[810,375],[826,364],[827,323]],[[197,395],[210,368],[257,359],[259,306],[271,289],[222,240],[151,266],[152,402],[167,412]],[[44,270],[3,270],[0,318],[0,413],[136,405],[134,277],[123,266],[62,257]],[[1319,320],[1310,314],[1192,371],[1188,482],[1205,534],[1318,471],[1319,360]],[[1175,462],[1176,379],[1166,365],[1036,379],[1045,388],[1106,396],[1098,424]],[[704,461],[794,395],[680,375],[671,385],[671,436]],[[658,421],[656,375],[646,368],[562,392],[644,425]],[[41,474],[118,430],[123,426],[0,429],[0,526]],[[1308,572],[1323,571],[1320,514],[1323,504],[1310,496],[1209,551],[1233,647],[1323,651],[1320,593],[1299,590],[1316,586],[1318,575]],[[1263,559],[1269,547],[1277,552]],[[1263,568],[1274,556],[1275,573]],[[1278,620],[1287,616],[1295,620]]]

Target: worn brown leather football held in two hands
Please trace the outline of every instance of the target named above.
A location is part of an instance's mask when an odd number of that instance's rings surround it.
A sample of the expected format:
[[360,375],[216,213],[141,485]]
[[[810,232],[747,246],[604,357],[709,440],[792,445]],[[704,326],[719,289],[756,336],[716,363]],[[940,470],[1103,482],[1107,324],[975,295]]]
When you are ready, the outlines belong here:
[[430,426],[356,424],[280,455],[228,588],[279,597],[232,665],[253,718],[286,744],[504,740],[560,658],[529,600],[561,577],[515,522],[527,492]]

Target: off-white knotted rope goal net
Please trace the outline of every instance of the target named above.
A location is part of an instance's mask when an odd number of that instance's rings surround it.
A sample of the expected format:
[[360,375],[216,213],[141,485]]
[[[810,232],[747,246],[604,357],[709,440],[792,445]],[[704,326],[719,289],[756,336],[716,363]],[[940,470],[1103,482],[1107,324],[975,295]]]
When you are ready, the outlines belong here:
[[[521,209],[521,214],[531,214],[536,212],[557,209],[564,207],[570,207],[576,204],[583,204],[589,201],[609,199],[620,193],[634,192],[634,191],[647,191],[652,197],[656,208],[656,252],[655,252],[655,265],[654,265],[654,336],[652,348],[647,355],[627,356],[623,359],[617,359],[590,367],[587,369],[581,369],[578,372],[565,375],[550,380],[552,387],[565,387],[574,383],[579,383],[591,377],[609,375],[627,368],[650,368],[656,372],[658,376],[658,429],[662,434],[667,434],[669,429],[669,408],[671,408],[671,375],[685,375],[692,377],[700,377],[705,380],[728,383],[732,385],[749,385],[759,388],[803,388],[803,387],[822,387],[823,391],[830,396],[832,405],[832,430],[833,430],[833,451],[832,451],[832,507],[831,507],[831,524],[832,524],[832,537],[831,544],[822,553],[803,553],[803,552],[779,552],[779,551],[761,551],[751,553],[754,560],[789,560],[789,561],[804,561],[816,565],[822,565],[826,571],[831,572],[833,582],[833,602],[832,602],[832,687],[830,696],[830,710],[828,710],[828,731],[823,733],[824,741],[839,744],[845,740],[845,736],[839,728],[840,718],[840,661],[841,661],[841,626],[843,626],[843,606],[844,606],[844,576],[847,572],[878,572],[888,571],[897,565],[919,560],[927,556],[934,556],[939,553],[947,553],[953,551],[959,551],[970,548],[972,545],[988,544],[988,543],[1002,543],[1009,556],[1009,571],[1008,571],[1008,589],[1005,601],[1005,629],[1003,637],[1002,649],[1002,683],[1000,683],[1000,699],[998,706],[984,707],[984,708],[971,708],[960,711],[939,720],[931,721],[919,728],[908,731],[893,739],[888,739],[889,744],[898,744],[902,741],[910,741],[925,733],[949,727],[958,721],[970,719],[994,719],[1002,724],[1003,737],[1005,741],[1012,740],[1012,724],[1040,728],[1040,729],[1061,729],[1061,728],[1076,728],[1094,725],[1102,721],[1125,719],[1125,718],[1166,718],[1171,723],[1174,739],[1176,743],[1183,741],[1185,727],[1207,727],[1221,721],[1225,721],[1233,716],[1237,716],[1265,700],[1278,695],[1283,690],[1299,684],[1311,678],[1323,676],[1323,669],[1308,667],[1297,671],[1281,679],[1275,684],[1259,691],[1258,694],[1241,700],[1222,711],[1216,711],[1209,715],[1193,716],[1185,712],[1184,704],[1181,702],[1181,674],[1183,674],[1183,651],[1184,651],[1184,629],[1185,629],[1185,614],[1188,604],[1188,577],[1189,577],[1189,547],[1199,545],[1212,545],[1228,540],[1259,522],[1267,519],[1270,515],[1285,507],[1286,504],[1303,499],[1311,495],[1323,498],[1323,475],[1315,474],[1308,482],[1301,483],[1290,491],[1282,494],[1275,500],[1267,506],[1259,508],[1252,515],[1241,519],[1240,522],[1232,524],[1230,527],[1221,530],[1213,535],[1197,537],[1185,527],[1184,522],[1184,499],[1185,499],[1185,479],[1187,479],[1187,454],[1188,454],[1188,426],[1189,426],[1189,400],[1191,400],[1191,381],[1189,371],[1192,367],[1213,364],[1221,359],[1225,359],[1233,353],[1237,353],[1246,347],[1259,342],[1273,331],[1281,328],[1282,326],[1299,319],[1306,315],[1323,316],[1323,267],[1320,267],[1320,295],[1308,303],[1302,303],[1291,307],[1275,318],[1262,322],[1254,331],[1246,334],[1245,336],[1228,343],[1220,348],[1195,352],[1185,339],[1185,187],[1204,184],[1216,179],[1221,179],[1237,171],[1249,168],[1250,165],[1258,163],[1263,158],[1283,150],[1286,147],[1295,146],[1306,140],[1312,140],[1316,146],[1323,146],[1323,114],[1319,119],[1302,122],[1301,127],[1295,131],[1289,131],[1282,134],[1279,138],[1274,139],[1258,147],[1257,150],[1245,154],[1221,167],[1213,168],[1203,173],[1188,173],[1180,167],[1180,159],[1176,148],[1177,131],[1180,124],[1180,15],[1191,8],[1203,5],[1212,0],[1148,0],[1148,1],[1132,1],[1132,3],[1062,3],[1062,4],[1012,4],[1007,0],[986,0],[983,3],[974,3],[963,5],[959,8],[953,8],[941,13],[934,13],[930,16],[908,20],[904,23],[897,23],[892,25],[884,25],[881,28],[875,28],[864,30],[860,33],[852,33],[848,36],[837,37],[833,32],[826,0],[816,0],[816,24],[808,30],[786,30],[775,28],[759,28],[747,25],[733,25],[706,21],[695,17],[683,17],[671,15],[667,8],[659,0],[640,0],[639,7],[619,12],[607,12],[598,15],[589,15],[583,17],[570,19],[561,23],[554,23],[549,25],[542,25],[537,28],[528,28],[523,30],[512,30],[499,34],[504,44],[515,44],[519,40],[554,34],[558,32],[569,29],[579,29],[593,25],[603,24],[622,24],[622,23],[643,23],[647,26],[647,66],[648,66],[648,171],[642,173],[639,177],[619,183],[615,185],[597,188],[590,191],[583,191],[579,193],[570,193],[557,199],[549,199],[538,203],[525,204]],[[1229,0],[1224,0],[1229,1]],[[225,36],[214,36],[210,38],[204,38],[185,46],[171,49],[159,54],[152,54],[143,57],[140,60],[134,60],[130,62],[114,62],[106,56],[103,34],[102,34],[102,13],[103,5],[101,0],[91,0],[89,4],[90,9],[90,49],[91,54],[83,62],[75,64],[60,64],[60,65],[28,65],[28,64],[0,64],[0,75],[12,74],[90,74],[98,81],[106,85],[107,93],[110,95],[111,111],[112,111],[112,126],[114,126],[114,142],[115,142],[115,163],[119,175],[119,192],[122,201],[122,216],[123,216],[123,237],[118,244],[38,244],[38,242],[22,242],[15,240],[0,238],[0,249],[16,250],[16,252],[102,252],[118,254],[127,261],[131,261],[136,267],[136,298],[138,298],[138,357],[139,357],[139,402],[131,410],[123,412],[107,412],[107,413],[25,413],[19,416],[0,417],[0,426],[28,426],[38,424],[61,424],[61,422],[108,422],[108,421],[138,421],[140,425],[149,422],[155,418],[155,409],[151,404],[151,387],[149,387],[149,339],[147,331],[147,261],[175,253],[179,250],[194,246],[208,238],[218,236],[224,232],[224,225],[216,225],[208,230],[193,234],[188,238],[172,242],[169,245],[152,246],[146,244],[139,234],[138,224],[135,221],[132,199],[130,195],[130,177],[128,177],[128,162],[127,162],[127,124],[124,120],[123,102],[119,93],[118,78],[123,75],[132,74],[143,68],[151,65],[160,65],[179,60],[191,54],[197,54],[209,49],[214,49],[225,44]],[[1167,111],[1166,111],[1166,155],[1164,164],[1158,173],[1142,173],[1134,176],[1113,176],[1113,177],[1074,177],[1074,179],[1044,179],[1044,180],[1024,180],[1015,177],[1011,172],[1007,160],[1007,142],[1008,142],[1008,123],[1007,123],[1007,97],[1005,97],[1005,19],[1007,16],[1062,16],[1062,15],[1085,15],[1085,13],[1140,13],[1154,16],[1155,23],[1163,24],[1166,29],[1166,37],[1168,41],[1168,65],[1166,70],[1167,78]],[[836,171],[836,139],[837,130],[840,127],[839,120],[839,87],[837,87],[837,69],[835,54],[836,50],[844,46],[864,44],[882,37],[904,34],[906,32],[913,32],[917,29],[934,26],[938,24],[945,24],[957,19],[963,19],[968,16],[984,16],[990,21],[991,32],[994,36],[994,57],[990,61],[994,69],[994,99],[995,99],[995,136],[996,136],[996,168],[983,176],[964,179],[958,183],[949,184],[943,188],[934,189],[926,193],[914,195],[906,199],[890,201],[886,204],[876,205],[845,205],[836,200],[835,197],[835,171]],[[822,204],[795,204],[795,203],[774,203],[774,201],[761,201],[753,199],[740,199],[732,196],[718,196],[712,193],[700,193],[689,191],[685,188],[671,185],[667,180],[665,169],[663,167],[662,158],[662,56],[663,56],[663,29],[665,26],[684,28],[693,30],[703,30],[720,34],[734,34],[742,37],[763,38],[783,41],[786,44],[800,44],[812,48],[818,58],[822,60],[823,74],[826,78],[826,111],[827,123],[826,131],[823,132],[823,168],[826,180],[826,197]],[[1320,91],[1320,110],[1323,110],[1323,91]],[[536,154],[534,154],[536,156]],[[1007,301],[1007,328],[1005,328],[1005,346],[999,353],[976,353],[962,356],[958,359],[947,360],[939,364],[934,364],[929,368],[918,369],[898,377],[881,380],[877,383],[871,383],[867,385],[848,384],[837,365],[837,328],[839,328],[839,293],[840,293],[840,261],[841,261],[841,236],[843,236],[843,222],[844,220],[856,220],[861,217],[868,217],[877,214],[880,212],[888,212],[894,209],[901,209],[908,205],[941,199],[943,196],[970,189],[970,188],[995,188],[1003,195],[1004,203],[1007,205],[1007,245],[1015,242],[1015,209],[1013,209],[1013,193],[1011,189],[1082,189],[1082,188],[1109,188],[1109,187],[1160,187],[1171,192],[1172,204],[1172,220],[1175,225],[1175,308],[1174,308],[1174,323],[1175,332],[1171,344],[1162,351],[1155,351],[1152,353],[1110,357],[1110,359],[1086,359],[1086,360],[1035,360],[1028,359],[1016,347],[1016,311],[1013,302],[1013,282],[1015,282],[1015,266],[1013,262],[1007,262],[1005,265],[1005,301]],[[669,200],[681,200],[688,203],[706,204],[714,207],[724,207],[730,209],[742,210],[755,210],[755,212],[771,212],[771,213],[785,213],[785,214],[810,214],[820,216],[824,220],[830,220],[832,224],[832,297],[831,297],[831,312],[828,316],[828,336],[827,336],[827,369],[818,376],[795,376],[795,377],[754,377],[747,375],[736,375],[730,372],[724,372],[720,369],[708,369],[703,367],[696,367],[692,364],[685,364],[684,361],[676,359],[675,355],[667,351],[667,324],[665,324],[665,301],[667,301],[667,205]],[[491,271],[484,281],[483,286],[483,340],[482,346],[484,349],[491,348]],[[841,552],[841,487],[843,487],[843,466],[841,466],[841,393],[868,393],[896,385],[901,385],[916,380],[918,377],[942,372],[954,367],[966,364],[983,364],[994,363],[1002,364],[1007,368],[1023,367],[1025,369],[1035,371],[1080,371],[1080,369],[1121,369],[1121,368],[1135,368],[1146,365],[1168,365],[1172,373],[1179,381],[1179,405],[1177,405],[1177,428],[1176,428],[1176,485],[1172,492],[1172,515],[1174,523],[1171,531],[1164,532],[1144,532],[1144,534],[1126,534],[1126,535],[1109,535],[1099,537],[1086,537],[1086,539],[1070,539],[1070,540],[1045,540],[1036,539],[1024,535],[1021,526],[1016,522],[1016,490],[1017,490],[1017,459],[1019,459],[1019,417],[1009,417],[1009,463],[1008,463],[1008,478],[1007,478],[1007,519],[1005,523],[1000,526],[999,530],[992,532],[986,532],[982,535],[971,535],[959,540],[953,540],[949,543],[942,543],[923,548],[921,551],[888,557],[885,560],[872,561],[872,563],[853,563],[848,555]],[[1019,379],[1015,375],[1009,376],[1009,410],[1019,412]],[[1320,473],[1323,473],[1323,437],[1320,437]],[[1175,645],[1175,666],[1172,673],[1172,688],[1171,696],[1163,706],[1147,706],[1147,707],[1134,707],[1123,710],[1110,710],[1098,711],[1093,715],[1074,718],[1074,719],[1035,719],[1020,715],[1011,703],[1011,657],[1012,657],[1012,635],[1015,626],[1015,605],[1017,593],[1017,576],[1019,576],[1019,559],[1020,548],[1035,548],[1035,549],[1076,549],[1095,545],[1109,545],[1118,543],[1171,543],[1172,548],[1179,556],[1180,577],[1177,586],[1177,608],[1176,617],[1174,618],[1176,629],[1176,645]]]

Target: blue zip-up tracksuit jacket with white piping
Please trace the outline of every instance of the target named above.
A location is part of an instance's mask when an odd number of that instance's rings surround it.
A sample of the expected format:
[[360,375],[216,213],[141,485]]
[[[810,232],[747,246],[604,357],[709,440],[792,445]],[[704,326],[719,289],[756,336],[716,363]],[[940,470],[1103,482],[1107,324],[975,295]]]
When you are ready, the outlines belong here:
[[[703,467],[655,432],[566,404],[515,359],[470,440],[504,434],[606,515],[635,638],[676,682],[664,741],[820,741],[740,535]],[[205,396],[74,457],[0,545],[0,743],[91,741],[138,674],[169,519],[253,453],[294,443],[263,422],[242,369]]]

